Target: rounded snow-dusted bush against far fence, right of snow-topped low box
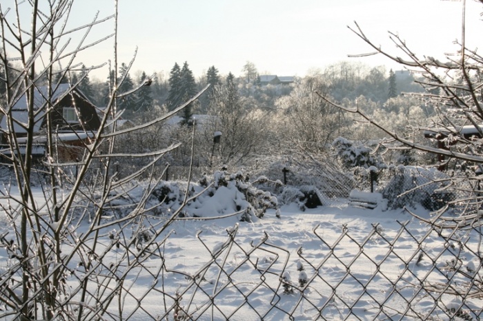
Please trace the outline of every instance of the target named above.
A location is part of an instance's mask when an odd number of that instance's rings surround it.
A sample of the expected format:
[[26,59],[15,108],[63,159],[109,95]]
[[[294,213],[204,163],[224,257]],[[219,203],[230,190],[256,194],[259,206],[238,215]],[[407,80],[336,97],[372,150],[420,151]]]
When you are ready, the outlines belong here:
[[434,211],[455,199],[451,191],[443,189],[449,178],[437,169],[399,165],[391,170],[394,176],[382,190],[390,209],[420,204]]

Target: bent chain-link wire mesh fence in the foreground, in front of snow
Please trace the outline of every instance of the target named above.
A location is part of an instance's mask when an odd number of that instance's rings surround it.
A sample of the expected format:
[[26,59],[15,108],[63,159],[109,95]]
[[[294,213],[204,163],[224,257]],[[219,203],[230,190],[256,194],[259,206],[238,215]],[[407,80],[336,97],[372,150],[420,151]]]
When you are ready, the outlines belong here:
[[[63,267],[55,298],[47,298],[52,284],[38,278],[35,269],[42,267],[29,258],[28,317],[39,320],[36,304],[49,299],[58,320],[79,314],[79,320],[479,320],[479,218],[464,228],[399,224],[397,230],[373,224],[366,235],[344,225],[336,238],[327,233],[333,227],[317,225],[296,251],[266,233],[248,242],[239,225],[215,238],[201,230],[196,242],[206,251],[183,268],[173,262],[185,251],[193,254],[189,245],[156,225],[135,238],[110,231],[79,244],[66,236],[64,246],[78,247],[79,260]],[[10,254],[8,278],[3,267],[0,281],[0,317],[17,320],[22,307],[14,293],[25,269],[8,236],[0,239]],[[173,246],[179,249],[167,251]]]

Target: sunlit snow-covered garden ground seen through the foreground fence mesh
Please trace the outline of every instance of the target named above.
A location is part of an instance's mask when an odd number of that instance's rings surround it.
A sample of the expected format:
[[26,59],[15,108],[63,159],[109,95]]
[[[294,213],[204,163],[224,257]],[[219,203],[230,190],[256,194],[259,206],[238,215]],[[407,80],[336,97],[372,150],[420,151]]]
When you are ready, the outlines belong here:
[[[36,197],[40,204],[41,191]],[[182,311],[199,320],[211,320],[211,315],[214,320],[244,321],[399,320],[402,315],[413,320],[417,313],[448,320],[444,311],[458,309],[461,302],[420,285],[446,282],[444,273],[452,273],[451,249],[458,245],[445,242],[402,209],[361,209],[348,203],[334,199],[306,211],[284,205],[253,222],[238,222],[237,216],[176,220],[157,237],[161,246],[156,250],[162,253],[146,256],[143,268],[126,277],[119,296],[124,318],[150,320],[168,310],[168,320],[185,320]],[[233,199],[225,195],[204,206],[226,210]],[[423,209],[416,213],[428,217]],[[164,220],[152,217],[143,224]],[[77,232],[87,227],[88,222]],[[115,233],[106,229],[100,245],[112,242],[109,231]],[[471,239],[465,247],[476,252],[477,242]],[[120,253],[113,247],[103,266],[117,265]],[[462,265],[481,271],[481,263],[468,253],[461,256]],[[5,249],[0,256],[1,268],[8,269]],[[74,286],[78,280],[68,282]],[[118,318],[117,303],[113,300],[106,320]],[[479,317],[480,305],[478,299],[464,302],[473,317]]]

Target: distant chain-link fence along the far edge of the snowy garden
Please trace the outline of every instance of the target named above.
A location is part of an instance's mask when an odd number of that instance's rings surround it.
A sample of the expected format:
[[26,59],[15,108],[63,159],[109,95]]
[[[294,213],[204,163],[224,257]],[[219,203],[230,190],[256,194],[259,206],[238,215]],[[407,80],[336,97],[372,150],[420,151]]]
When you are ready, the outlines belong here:
[[[119,165],[112,166],[112,172],[117,173],[120,178],[128,176],[129,173],[139,170],[140,165]],[[255,181],[259,176],[266,177],[269,181],[278,181],[284,185],[295,187],[312,186],[318,189],[322,196],[322,203],[328,203],[331,198],[348,198],[352,189],[362,191],[379,191],[388,202],[391,208],[403,208],[408,205],[421,204],[429,210],[440,209],[446,204],[451,205],[457,212],[468,211],[469,207],[475,208],[474,202],[462,202],[461,200],[474,200],[475,190],[478,187],[475,182],[464,180],[455,185],[446,174],[436,169],[425,169],[423,167],[391,167],[380,169],[371,181],[371,174],[367,169],[359,168],[351,174],[342,171],[324,170],[318,168],[311,171],[297,167],[282,168],[258,168],[258,167],[186,167],[171,165],[152,166],[147,174],[154,174],[154,177],[161,177],[163,180],[188,180],[197,182],[203,176],[213,176],[217,170],[229,174],[243,172],[250,176],[250,181]],[[263,183],[262,183],[263,185]],[[262,189],[273,191],[273,186],[266,184]],[[324,202],[325,200],[325,202]]]

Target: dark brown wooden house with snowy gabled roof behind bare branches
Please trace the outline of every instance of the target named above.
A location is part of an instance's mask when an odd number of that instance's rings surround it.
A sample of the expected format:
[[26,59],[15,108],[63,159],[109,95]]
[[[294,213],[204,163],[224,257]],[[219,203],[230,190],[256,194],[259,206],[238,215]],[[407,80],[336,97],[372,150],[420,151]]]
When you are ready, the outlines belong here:
[[[50,111],[52,119],[52,132],[55,132],[57,141],[57,154],[59,161],[72,161],[81,158],[83,147],[89,143],[101,126],[97,108],[77,88],[69,84],[61,84],[55,92],[48,97],[47,87],[37,87],[34,90],[34,156],[45,154],[47,142],[46,110]],[[27,131],[23,124],[28,123],[28,106],[25,96],[21,97],[11,110],[12,126],[10,127],[6,116],[0,122],[1,153],[9,156],[8,137],[17,139],[20,152],[25,150]]]

